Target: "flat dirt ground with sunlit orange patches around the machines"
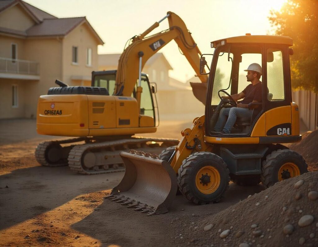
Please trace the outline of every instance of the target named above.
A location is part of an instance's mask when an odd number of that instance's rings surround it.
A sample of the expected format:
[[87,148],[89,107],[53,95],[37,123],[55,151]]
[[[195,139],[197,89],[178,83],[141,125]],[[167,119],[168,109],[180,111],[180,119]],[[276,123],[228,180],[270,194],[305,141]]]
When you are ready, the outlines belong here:
[[[157,133],[143,136],[180,138],[190,126],[190,120],[162,121]],[[123,172],[88,176],[38,165],[38,142],[60,138],[38,135],[35,120],[1,120],[0,136],[1,246],[184,246],[183,229],[202,227],[265,189],[231,183],[220,203],[203,206],[176,196],[167,214],[148,217],[103,198]]]

